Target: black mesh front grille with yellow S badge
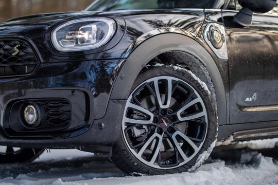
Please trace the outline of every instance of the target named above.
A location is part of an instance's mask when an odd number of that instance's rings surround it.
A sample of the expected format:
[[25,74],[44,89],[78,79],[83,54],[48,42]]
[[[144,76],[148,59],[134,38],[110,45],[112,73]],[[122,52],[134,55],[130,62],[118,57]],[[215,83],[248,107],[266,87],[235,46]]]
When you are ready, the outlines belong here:
[[37,64],[36,54],[28,43],[21,40],[0,39],[0,77],[28,75]]

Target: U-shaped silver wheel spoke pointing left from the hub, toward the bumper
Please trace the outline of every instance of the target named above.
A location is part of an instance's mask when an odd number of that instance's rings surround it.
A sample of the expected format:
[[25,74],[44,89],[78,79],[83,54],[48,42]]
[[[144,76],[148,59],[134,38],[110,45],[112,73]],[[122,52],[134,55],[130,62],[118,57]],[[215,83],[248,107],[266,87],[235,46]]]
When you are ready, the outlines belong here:
[[125,122],[133,123],[133,124],[152,124],[153,114],[151,112],[149,112],[149,110],[147,110],[147,109],[145,109],[145,108],[143,108],[141,106],[135,105],[133,103],[129,103],[128,107],[136,110],[137,112],[140,112],[142,114],[148,115],[150,117],[150,119],[149,120],[137,120],[137,119],[127,118],[127,116],[125,116],[124,117],[124,121]]

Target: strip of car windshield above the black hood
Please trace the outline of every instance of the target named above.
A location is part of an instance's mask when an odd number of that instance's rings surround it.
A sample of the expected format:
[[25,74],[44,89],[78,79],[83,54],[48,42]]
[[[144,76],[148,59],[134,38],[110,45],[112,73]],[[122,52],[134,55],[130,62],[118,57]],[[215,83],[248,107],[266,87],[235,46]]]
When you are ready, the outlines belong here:
[[86,11],[211,8],[216,0],[96,0]]

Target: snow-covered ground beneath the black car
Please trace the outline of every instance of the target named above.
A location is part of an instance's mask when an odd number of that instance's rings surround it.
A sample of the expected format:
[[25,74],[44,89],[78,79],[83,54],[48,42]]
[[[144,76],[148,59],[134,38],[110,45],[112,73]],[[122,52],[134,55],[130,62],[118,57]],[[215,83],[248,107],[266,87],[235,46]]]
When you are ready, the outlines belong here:
[[[127,177],[108,159],[96,158],[91,153],[51,150],[32,163],[0,165],[0,185],[278,184],[278,145],[273,141],[268,145],[265,142],[243,144],[236,151],[221,152],[222,160],[208,160],[195,173],[148,177]],[[252,150],[246,149],[250,144]],[[274,148],[259,150],[263,145]]]

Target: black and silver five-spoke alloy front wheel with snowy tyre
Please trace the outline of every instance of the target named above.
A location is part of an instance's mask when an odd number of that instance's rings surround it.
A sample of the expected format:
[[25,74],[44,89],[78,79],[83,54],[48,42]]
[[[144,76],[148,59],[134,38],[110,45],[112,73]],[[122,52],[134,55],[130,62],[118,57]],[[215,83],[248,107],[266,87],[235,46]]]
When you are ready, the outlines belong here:
[[126,103],[119,147],[132,164],[119,168],[132,175],[187,171],[208,146],[208,92],[189,74],[178,78],[186,71],[163,69],[177,74],[158,69],[157,76],[140,78]]

